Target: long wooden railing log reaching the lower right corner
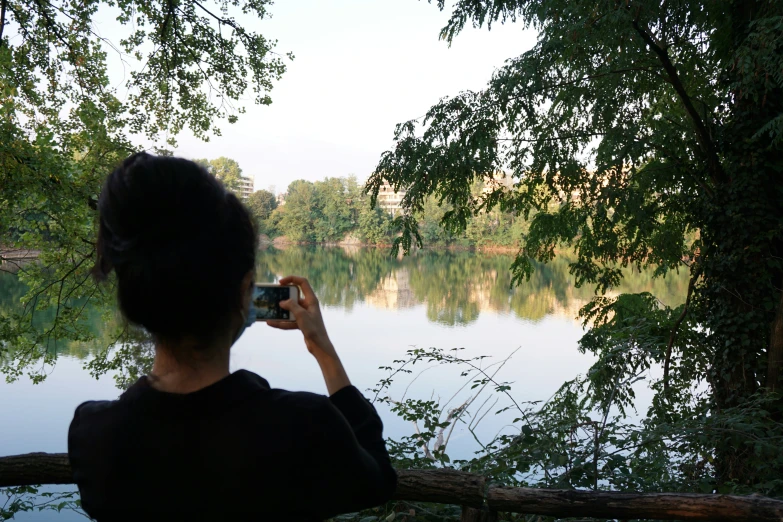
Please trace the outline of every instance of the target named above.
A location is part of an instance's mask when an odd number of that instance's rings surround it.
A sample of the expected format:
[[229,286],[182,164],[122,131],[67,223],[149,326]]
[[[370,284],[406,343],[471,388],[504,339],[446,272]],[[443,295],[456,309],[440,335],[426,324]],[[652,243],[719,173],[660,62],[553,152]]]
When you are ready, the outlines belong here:
[[491,486],[487,505],[557,517],[649,518],[711,522],[781,522],[783,502],[760,495],[695,493],[616,493]]

